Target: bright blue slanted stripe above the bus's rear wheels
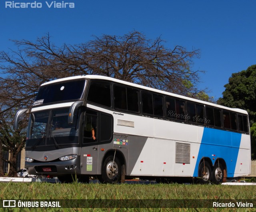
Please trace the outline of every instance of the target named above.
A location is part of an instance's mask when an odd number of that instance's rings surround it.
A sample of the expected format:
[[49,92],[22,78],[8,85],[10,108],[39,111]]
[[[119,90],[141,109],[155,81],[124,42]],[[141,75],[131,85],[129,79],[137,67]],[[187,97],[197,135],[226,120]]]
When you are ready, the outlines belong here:
[[193,176],[198,176],[200,160],[208,157],[212,164],[217,158],[223,158],[227,165],[227,176],[234,177],[241,137],[242,134],[236,132],[204,128]]

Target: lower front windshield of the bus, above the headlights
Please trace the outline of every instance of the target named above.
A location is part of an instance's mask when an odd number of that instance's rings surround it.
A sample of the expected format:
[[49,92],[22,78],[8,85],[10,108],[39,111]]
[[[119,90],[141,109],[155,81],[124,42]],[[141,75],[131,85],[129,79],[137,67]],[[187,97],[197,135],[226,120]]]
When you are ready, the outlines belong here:
[[31,114],[26,146],[78,144],[78,126],[68,124],[68,112],[69,108],[58,108]]

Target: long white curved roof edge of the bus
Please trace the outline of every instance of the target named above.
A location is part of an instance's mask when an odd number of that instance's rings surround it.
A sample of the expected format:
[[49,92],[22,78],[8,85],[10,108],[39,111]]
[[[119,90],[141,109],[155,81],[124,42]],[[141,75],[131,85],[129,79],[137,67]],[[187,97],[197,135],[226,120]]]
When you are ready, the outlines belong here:
[[242,113],[242,114],[248,114],[248,112],[246,110],[242,110],[242,109],[238,109],[238,108],[228,108],[228,107],[225,107],[225,106],[222,106],[222,105],[213,104],[213,103],[210,103],[210,102],[197,100],[197,99],[190,98],[190,97],[187,97],[187,96],[182,96],[182,95],[179,95],[179,94],[173,94],[173,93],[158,90],[158,89],[155,89],[155,88],[149,88],[149,87],[146,87],[146,86],[134,84],[132,82],[126,82],[126,81],[123,81],[123,80],[118,80],[118,79],[115,79],[115,78],[111,78],[111,77],[107,77],[107,76],[100,76],[100,75],[82,75],[82,76],[71,76],[71,77],[66,77],[66,78],[60,78],[58,80],[52,80],[50,82],[45,82],[41,86],[45,86],[47,84],[52,84],[52,83],[57,83],[57,82],[62,82],[62,81],[81,80],[81,79],[108,80],[108,81],[117,82],[117,83],[128,85],[128,86],[132,86],[132,87],[135,87],[135,88],[140,88],[140,89],[144,89],[144,90],[148,90],[148,91],[157,92],[159,94],[164,94],[164,95],[173,96],[173,97],[184,99],[184,100],[189,100],[189,101],[198,102],[198,103],[201,103],[201,104],[206,104],[208,106],[218,107],[218,108],[222,108],[222,109],[226,109],[226,110],[232,110],[234,112],[239,112],[239,113]]

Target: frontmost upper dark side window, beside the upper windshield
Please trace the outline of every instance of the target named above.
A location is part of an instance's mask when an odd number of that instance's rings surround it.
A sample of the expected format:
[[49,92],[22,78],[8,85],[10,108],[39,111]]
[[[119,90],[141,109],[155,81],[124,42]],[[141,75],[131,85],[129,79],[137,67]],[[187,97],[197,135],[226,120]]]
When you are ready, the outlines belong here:
[[103,106],[111,106],[110,83],[92,81],[87,100]]

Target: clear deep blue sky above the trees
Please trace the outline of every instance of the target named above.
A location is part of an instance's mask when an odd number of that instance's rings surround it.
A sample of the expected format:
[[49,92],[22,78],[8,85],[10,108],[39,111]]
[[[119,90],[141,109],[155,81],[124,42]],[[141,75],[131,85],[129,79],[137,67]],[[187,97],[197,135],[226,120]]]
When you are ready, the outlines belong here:
[[150,39],[161,36],[167,48],[200,49],[192,68],[206,72],[198,87],[215,99],[232,73],[256,64],[256,0],[55,0],[75,8],[48,8],[52,1],[36,0],[42,8],[6,8],[8,0],[1,0],[0,51],[16,50],[10,39],[35,41],[48,32],[60,46],[137,30]]

